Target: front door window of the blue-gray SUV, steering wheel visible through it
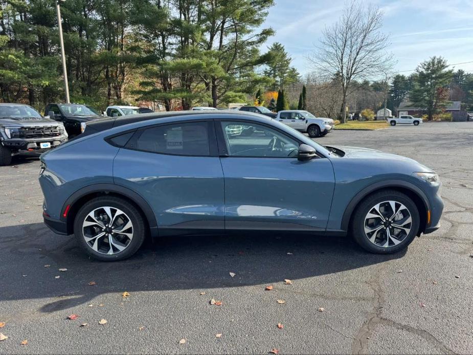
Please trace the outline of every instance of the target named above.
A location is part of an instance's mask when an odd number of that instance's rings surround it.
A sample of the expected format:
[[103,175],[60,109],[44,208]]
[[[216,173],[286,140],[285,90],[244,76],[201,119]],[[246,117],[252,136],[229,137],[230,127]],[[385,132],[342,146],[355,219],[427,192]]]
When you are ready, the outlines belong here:
[[220,124],[230,157],[297,157],[299,143],[273,128],[247,122]]

